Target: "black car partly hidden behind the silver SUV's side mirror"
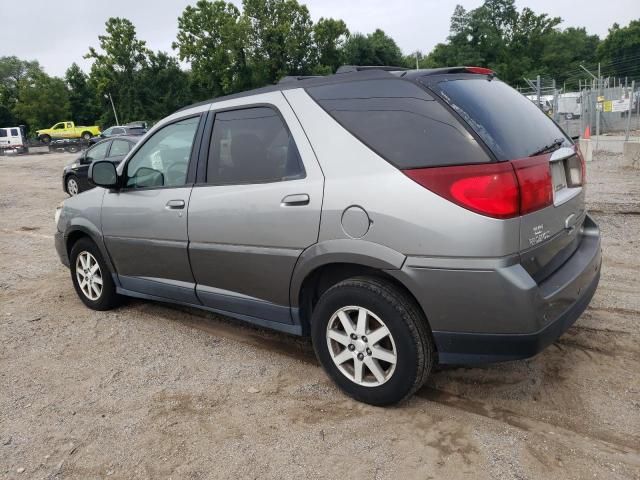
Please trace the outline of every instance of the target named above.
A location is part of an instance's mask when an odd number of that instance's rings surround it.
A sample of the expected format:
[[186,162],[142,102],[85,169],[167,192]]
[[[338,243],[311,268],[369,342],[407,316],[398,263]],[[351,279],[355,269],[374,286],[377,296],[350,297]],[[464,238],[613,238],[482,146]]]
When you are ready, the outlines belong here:
[[91,162],[107,160],[118,165],[140,138],[139,136],[120,136],[116,139],[102,140],[88,148],[62,170],[62,189],[70,196],[74,196],[93,188],[93,185],[87,181],[87,170]]

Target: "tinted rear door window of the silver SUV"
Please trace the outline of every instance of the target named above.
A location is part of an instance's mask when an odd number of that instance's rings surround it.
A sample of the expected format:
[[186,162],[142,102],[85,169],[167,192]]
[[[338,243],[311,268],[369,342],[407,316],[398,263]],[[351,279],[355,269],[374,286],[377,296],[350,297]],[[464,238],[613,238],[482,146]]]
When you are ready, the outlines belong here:
[[304,177],[293,137],[267,107],[216,114],[207,183],[264,183]]

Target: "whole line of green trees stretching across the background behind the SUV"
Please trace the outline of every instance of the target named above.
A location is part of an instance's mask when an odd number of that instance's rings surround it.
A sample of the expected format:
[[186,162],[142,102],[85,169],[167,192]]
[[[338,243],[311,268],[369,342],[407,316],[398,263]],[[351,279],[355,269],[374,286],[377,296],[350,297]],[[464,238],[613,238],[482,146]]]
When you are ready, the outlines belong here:
[[[326,75],[343,64],[434,68],[485,66],[511,85],[536,75],[568,88],[584,79],[580,65],[640,80],[640,19],[614,24],[604,39],[562,20],[518,10],[515,0],[485,0],[473,10],[457,6],[446,41],[424,55],[405,53],[380,29],[352,33],[344,21],[311,20],[297,0],[199,0],[178,18],[175,56],[152,51],[126,18],[109,18],[97,46],[64,78],[37,61],[0,57],[0,125],[30,132],[72,119],[78,124],[156,121],[189,103],[277,82],[286,75]],[[181,63],[189,68],[183,69]]]

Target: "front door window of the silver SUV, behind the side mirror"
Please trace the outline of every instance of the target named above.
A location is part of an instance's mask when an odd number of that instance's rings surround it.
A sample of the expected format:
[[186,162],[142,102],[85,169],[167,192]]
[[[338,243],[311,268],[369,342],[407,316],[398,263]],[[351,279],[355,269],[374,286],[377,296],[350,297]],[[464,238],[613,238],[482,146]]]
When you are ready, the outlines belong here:
[[127,164],[126,186],[150,188],[184,185],[199,121],[200,117],[178,120],[149,138]]

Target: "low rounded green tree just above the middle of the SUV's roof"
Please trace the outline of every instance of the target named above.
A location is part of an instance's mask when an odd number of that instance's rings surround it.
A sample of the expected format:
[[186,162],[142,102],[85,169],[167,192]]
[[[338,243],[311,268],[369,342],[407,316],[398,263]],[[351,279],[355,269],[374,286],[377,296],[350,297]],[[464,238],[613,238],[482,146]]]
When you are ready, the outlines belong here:
[[402,65],[402,51],[393,38],[377,29],[368,35],[356,33],[344,44],[344,61],[349,65]]

